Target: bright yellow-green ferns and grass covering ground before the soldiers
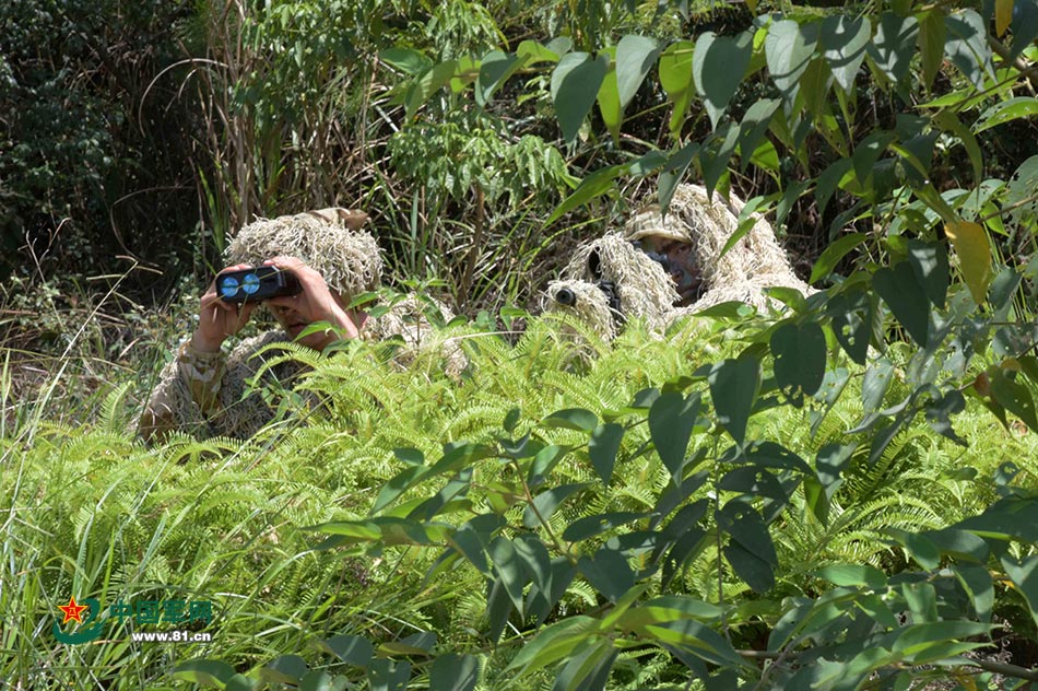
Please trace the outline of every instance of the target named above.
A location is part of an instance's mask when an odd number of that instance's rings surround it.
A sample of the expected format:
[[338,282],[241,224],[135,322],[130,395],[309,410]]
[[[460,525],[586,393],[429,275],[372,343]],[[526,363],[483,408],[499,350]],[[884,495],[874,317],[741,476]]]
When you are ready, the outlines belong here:
[[[457,327],[452,335],[470,359],[460,380],[443,373],[435,353],[403,368],[391,349],[358,344],[317,363],[303,386],[327,406],[305,421],[290,418],[248,442],[176,437],[155,447],[133,437],[141,385],[129,373],[153,372],[168,356],[165,346],[137,349],[128,364],[108,362],[111,380],[87,398],[59,395],[62,386],[80,385],[70,377],[81,371],[72,355],[55,360],[52,377],[27,405],[10,398],[15,355],[5,349],[0,391],[4,409],[17,413],[5,415],[0,437],[0,678],[10,688],[173,688],[168,672],[177,661],[219,658],[248,671],[279,655],[319,660],[314,641],[340,633],[390,641],[434,630],[469,640],[485,616],[477,573],[426,581],[430,552],[315,551],[321,536],[304,528],[364,516],[399,470],[394,448],[432,456],[447,442],[492,440],[514,408],[520,431],[563,408],[618,410],[638,390],[739,349],[738,330],[705,320],[662,340],[637,326],[612,344],[583,333],[583,355],[564,333],[546,317],[531,319],[515,346],[472,326]],[[816,436],[806,413],[787,407],[755,417],[754,424],[810,459],[857,421],[856,397],[844,400]],[[889,458],[848,471],[829,526],[812,523],[804,510],[802,520],[779,529],[776,543],[790,565],[783,587],[809,588],[811,570],[826,563],[896,558],[883,529],[936,527],[976,513],[993,496],[995,468],[1038,450],[1031,436],[1002,430],[983,410],[967,411],[956,424],[970,447],[913,428],[892,445]],[[542,433],[554,443],[571,434]],[[668,476],[658,461],[635,453],[647,440],[646,430],[632,430],[622,453],[632,460],[617,466],[609,490],[558,519],[651,505]],[[556,468],[553,481],[592,478],[586,456],[577,453]],[[976,473],[962,472],[966,467]],[[491,483],[503,469],[489,460],[475,471]],[[687,592],[717,597],[711,560],[716,555],[707,553],[687,571]],[[96,598],[103,607],[120,600],[212,601],[215,621],[202,630],[213,640],[134,643],[132,631],[172,626],[126,620],[109,622],[89,644],[62,645],[50,628],[57,606],[70,596]],[[595,602],[575,587],[563,606],[580,611]]]

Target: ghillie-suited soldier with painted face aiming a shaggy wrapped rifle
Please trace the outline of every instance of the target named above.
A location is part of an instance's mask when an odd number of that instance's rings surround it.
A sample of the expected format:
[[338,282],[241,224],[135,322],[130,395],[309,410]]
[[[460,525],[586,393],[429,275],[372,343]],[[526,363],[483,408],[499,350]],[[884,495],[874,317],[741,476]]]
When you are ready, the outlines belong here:
[[770,224],[759,215],[724,256],[739,227],[743,201],[734,195],[712,199],[706,188],[683,184],[667,215],[650,203],[624,232],[600,237],[574,255],[562,278],[549,284],[546,307],[576,313],[597,332],[613,338],[624,320],[644,319],[662,332],[676,318],[722,302],[758,309],[777,305],[765,289],[813,291],[789,265]]

